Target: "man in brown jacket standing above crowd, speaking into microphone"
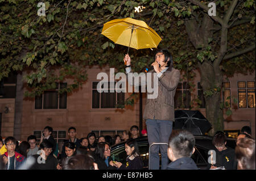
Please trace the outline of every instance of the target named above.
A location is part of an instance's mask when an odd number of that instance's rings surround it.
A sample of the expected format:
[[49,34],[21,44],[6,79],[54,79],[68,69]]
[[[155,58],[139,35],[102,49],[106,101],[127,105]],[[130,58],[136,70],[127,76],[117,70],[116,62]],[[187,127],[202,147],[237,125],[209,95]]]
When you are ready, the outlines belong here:
[[[131,71],[129,54],[125,55],[123,61],[126,64],[126,73],[129,74]],[[180,81],[180,71],[174,69],[172,55],[167,49],[156,50],[154,62],[151,66],[154,67],[154,70],[150,70],[148,73],[157,74],[158,96],[153,99],[150,97],[152,94],[147,92],[146,106],[143,113],[143,118],[146,119],[148,143],[150,145],[153,142],[168,143],[174,121],[174,96]],[[156,83],[151,82],[151,85],[156,85]],[[167,145],[154,145],[151,148],[150,157],[152,170],[159,170],[159,148],[162,157],[161,169],[166,169],[169,162]]]

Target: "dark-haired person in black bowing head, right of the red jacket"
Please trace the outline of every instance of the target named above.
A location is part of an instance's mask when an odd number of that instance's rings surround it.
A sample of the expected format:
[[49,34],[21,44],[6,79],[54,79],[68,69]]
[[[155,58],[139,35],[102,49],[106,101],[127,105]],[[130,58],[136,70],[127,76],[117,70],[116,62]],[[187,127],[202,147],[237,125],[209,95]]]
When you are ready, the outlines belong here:
[[31,170],[56,170],[58,160],[53,157],[52,153],[53,145],[50,141],[44,140],[40,144],[40,148],[35,158],[35,163],[31,166]]

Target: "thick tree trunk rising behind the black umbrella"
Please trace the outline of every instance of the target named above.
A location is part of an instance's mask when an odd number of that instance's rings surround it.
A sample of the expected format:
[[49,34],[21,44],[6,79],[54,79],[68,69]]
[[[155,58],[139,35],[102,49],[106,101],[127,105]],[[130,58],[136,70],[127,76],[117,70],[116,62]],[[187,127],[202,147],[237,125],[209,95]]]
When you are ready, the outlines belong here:
[[[209,38],[213,37],[213,20],[206,14],[202,17],[194,14],[196,19],[189,19],[185,21],[186,30],[193,46],[196,49],[204,49],[209,46]],[[225,51],[224,51],[225,52]],[[203,91],[214,90],[216,87],[222,86],[222,72],[219,68],[220,62],[212,62],[204,57],[203,63],[198,63],[198,67],[201,73],[200,84],[203,87]],[[204,95],[205,98],[205,111],[208,121],[212,124],[212,128],[209,132],[213,135],[216,131],[223,131],[223,112],[220,109],[221,102],[221,89],[215,89],[210,96]]]

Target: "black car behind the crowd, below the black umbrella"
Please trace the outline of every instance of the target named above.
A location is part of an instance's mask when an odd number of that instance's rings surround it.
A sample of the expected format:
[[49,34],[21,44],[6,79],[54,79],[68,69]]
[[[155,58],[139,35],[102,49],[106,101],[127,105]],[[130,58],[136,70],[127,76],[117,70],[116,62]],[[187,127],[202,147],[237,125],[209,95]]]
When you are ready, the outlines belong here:
[[[208,157],[209,157],[208,151],[214,149],[214,145],[212,144],[212,137],[195,136],[195,138],[196,138],[195,152],[193,153],[191,158],[195,161],[199,169],[206,169],[208,165]],[[136,140],[139,146],[139,151],[141,153],[142,161],[144,163],[143,169],[148,169],[149,145],[147,141],[147,136],[136,138]],[[234,149],[236,147],[236,139],[228,138],[226,145]],[[113,158],[113,161],[126,163],[127,155],[125,151],[125,141],[112,146],[111,157]],[[159,157],[161,157],[160,153],[159,153]],[[160,166],[161,166],[161,162],[160,162]]]

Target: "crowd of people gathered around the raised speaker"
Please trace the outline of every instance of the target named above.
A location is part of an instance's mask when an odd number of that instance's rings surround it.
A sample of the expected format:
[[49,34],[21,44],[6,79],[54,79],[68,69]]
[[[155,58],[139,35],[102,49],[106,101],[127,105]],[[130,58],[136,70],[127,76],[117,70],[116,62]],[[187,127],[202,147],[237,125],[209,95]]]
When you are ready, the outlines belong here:
[[[51,127],[45,127],[39,145],[36,137],[18,142],[14,137],[0,139],[0,169],[2,170],[141,170],[143,161],[135,138],[139,128],[133,125],[122,136],[96,137],[93,132],[87,137],[77,138],[76,128],[68,129],[69,140],[63,144],[61,153],[52,137]],[[217,131],[212,140],[216,159],[209,162],[207,169],[255,169],[255,140],[250,127],[243,127],[237,137],[236,149],[226,146],[225,133]],[[112,145],[125,141],[126,163],[114,161]],[[195,137],[186,130],[173,130],[168,139],[167,155],[170,159],[167,170],[196,170],[191,158],[195,151]]]

